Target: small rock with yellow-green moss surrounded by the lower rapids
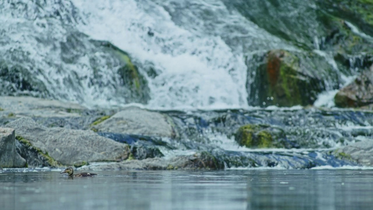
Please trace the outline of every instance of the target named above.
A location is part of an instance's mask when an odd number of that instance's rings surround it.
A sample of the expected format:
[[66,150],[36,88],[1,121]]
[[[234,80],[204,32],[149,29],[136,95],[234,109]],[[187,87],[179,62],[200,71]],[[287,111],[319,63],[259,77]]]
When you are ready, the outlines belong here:
[[248,148],[289,148],[285,139],[283,130],[263,124],[247,124],[235,133],[236,142]]

